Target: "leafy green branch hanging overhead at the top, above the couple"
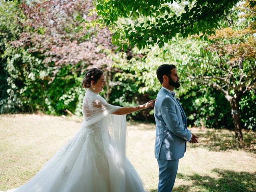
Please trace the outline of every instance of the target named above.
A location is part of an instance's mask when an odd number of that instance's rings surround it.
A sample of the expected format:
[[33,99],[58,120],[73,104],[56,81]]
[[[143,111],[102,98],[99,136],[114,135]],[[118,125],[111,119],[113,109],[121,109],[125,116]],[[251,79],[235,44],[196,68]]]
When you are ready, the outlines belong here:
[[[97,19],[90,22],[91,27],[109,26],[112,30],[112,43],[118,50],[135,45],[140,50],[146,46],[157,44],[160,48],[176,35],[186,38],[197,34],[207,39],[207,35],[215,34],[221,20],[238,0],[97,0],[94,10]],[[254,2],[252,1],[252,4]],[[183,12],[176,12],[175,6],[182,4]],[[141,18],[143,22],[120,26],[120,18]]]

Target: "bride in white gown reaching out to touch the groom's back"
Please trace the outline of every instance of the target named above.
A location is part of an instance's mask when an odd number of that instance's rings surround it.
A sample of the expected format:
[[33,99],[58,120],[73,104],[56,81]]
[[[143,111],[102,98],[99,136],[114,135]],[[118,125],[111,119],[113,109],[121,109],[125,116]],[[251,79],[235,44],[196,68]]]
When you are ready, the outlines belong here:
[[82,128],[30,181],[8,192],[144,192],[126,157],[125,114],[152,107],[155,100],[113,106],[98,94],[105,84],[102,70],[85,74]]

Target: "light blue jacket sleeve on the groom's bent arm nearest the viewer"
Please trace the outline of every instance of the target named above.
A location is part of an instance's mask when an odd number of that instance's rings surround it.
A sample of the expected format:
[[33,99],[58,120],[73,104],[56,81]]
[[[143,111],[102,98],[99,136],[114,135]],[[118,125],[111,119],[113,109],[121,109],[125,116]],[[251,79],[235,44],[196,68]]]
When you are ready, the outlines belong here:
[[162,100],[161,114],[168,129],[172,133],[186,141],[190,141],[192,134],[179,122],[175,104],[171,98],[167,97]]

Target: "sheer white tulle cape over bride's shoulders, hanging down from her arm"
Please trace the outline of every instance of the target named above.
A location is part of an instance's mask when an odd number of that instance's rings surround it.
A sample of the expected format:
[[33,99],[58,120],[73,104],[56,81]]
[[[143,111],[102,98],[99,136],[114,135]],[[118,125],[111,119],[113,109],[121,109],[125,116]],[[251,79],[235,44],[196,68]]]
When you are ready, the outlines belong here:
[[102,141],[110,170],[110,191],[113,192],[125,191],[126,185],[126,115],[112,114],[119,108],[108,104],[102,96],[90,89],[85,93],[82,128],[101,122]]

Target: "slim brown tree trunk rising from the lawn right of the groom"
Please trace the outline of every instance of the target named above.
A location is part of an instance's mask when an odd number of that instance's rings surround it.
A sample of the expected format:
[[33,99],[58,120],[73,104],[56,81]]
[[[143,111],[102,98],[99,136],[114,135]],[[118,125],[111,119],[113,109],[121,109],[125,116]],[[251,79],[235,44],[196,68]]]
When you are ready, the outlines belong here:
[[234,121],[236,140],[242,141],[243,134],[242,134],[242,125],[240,120],[239,98],[236,97],[236,95],[230,99],[230,106],[232,109],[232,117]]

